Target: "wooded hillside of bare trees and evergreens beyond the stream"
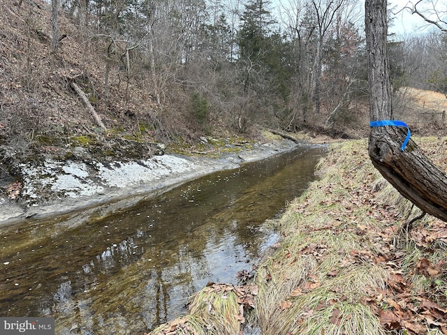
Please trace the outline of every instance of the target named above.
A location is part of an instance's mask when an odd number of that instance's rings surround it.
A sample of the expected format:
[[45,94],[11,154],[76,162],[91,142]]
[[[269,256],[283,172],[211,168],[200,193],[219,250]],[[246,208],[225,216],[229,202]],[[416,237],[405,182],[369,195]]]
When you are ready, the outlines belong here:
[[[367,135],[361,4],[275,5],[1,1],[2,162],[70,156],[76,147],[150,154],[153,142],[250,136],[260,127]],[[395,92],[410,84],[443,92],[441,57],[418,50],[442,49],[444,39],[390,40]],[[408,99],[397,98],[402,115]]]

